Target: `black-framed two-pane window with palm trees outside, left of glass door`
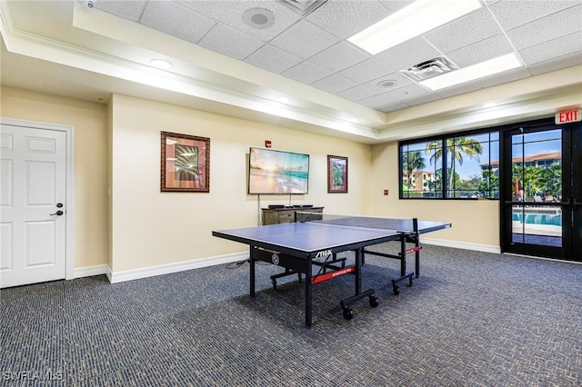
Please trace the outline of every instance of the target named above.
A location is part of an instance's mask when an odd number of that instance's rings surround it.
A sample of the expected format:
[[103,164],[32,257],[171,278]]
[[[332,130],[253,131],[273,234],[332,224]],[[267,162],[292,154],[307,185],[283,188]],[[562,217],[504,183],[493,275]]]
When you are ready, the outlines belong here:
[[499,133],[400,144],[401,198],[499,197]]

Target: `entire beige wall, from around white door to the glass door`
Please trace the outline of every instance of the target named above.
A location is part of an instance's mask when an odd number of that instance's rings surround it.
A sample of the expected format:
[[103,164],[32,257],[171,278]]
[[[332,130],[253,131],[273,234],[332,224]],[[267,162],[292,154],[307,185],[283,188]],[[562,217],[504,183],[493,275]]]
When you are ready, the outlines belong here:
[[[246,193],[247,154],[265,140],[311,156],[309,193],[291,203],[450,221],[452,229],[427,237],[499,244],[497,201],[399,201],[396,143],[356,144],[123,95],[105,106],[3,88],[1,102],[4,117],[75,127],[75,268],[106,263],[118,273],[245,251],[212,230],[258,223],[258,198]],[[161,131],[210,138],[210,193],[160,192]],[[349,193],[327,193],[327,154],[348,157]],[[261,195],[260,204],[288,201]]]

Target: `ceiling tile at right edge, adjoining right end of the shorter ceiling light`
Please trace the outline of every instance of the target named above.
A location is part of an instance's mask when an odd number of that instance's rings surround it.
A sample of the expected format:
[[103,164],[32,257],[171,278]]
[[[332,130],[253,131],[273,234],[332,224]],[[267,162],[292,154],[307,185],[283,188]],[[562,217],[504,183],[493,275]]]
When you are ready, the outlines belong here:
[[532,45],[519,51],[526,65],[533,65],[548,59],[582,52],[582,32],[558,37],[540,45]]

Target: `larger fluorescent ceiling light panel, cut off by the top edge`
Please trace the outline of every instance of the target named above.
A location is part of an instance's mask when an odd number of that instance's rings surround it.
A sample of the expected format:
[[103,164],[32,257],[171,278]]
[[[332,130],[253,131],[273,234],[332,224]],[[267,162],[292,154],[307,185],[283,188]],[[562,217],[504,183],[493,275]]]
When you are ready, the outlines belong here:
[[376,55],[480,7],[478,0],[416,0],[347,40]]

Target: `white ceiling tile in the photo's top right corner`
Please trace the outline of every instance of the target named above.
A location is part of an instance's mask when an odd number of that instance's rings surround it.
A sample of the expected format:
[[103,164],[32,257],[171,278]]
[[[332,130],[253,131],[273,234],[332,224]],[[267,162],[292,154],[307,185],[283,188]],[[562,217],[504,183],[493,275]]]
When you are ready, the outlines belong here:
[[579,4],[579,0],[512,0],[499,1],[489,9],[501,27],[509,30]]

